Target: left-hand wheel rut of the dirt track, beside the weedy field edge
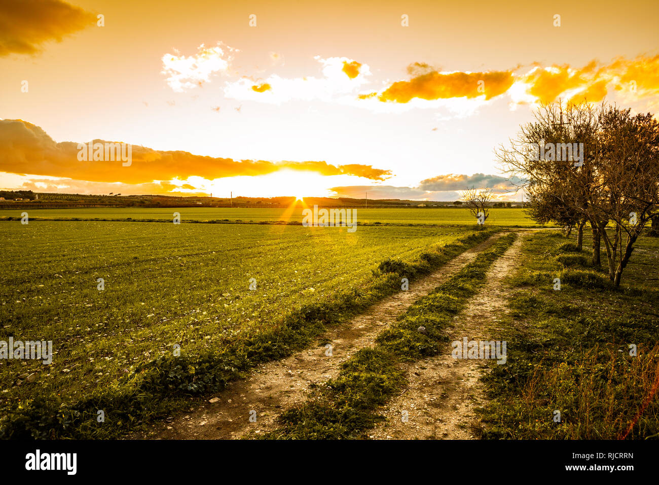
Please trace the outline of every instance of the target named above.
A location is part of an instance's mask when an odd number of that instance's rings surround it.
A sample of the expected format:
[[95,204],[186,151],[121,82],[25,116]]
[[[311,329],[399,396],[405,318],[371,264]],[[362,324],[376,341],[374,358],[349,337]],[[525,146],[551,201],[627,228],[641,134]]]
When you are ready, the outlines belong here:
[[[480,251],[489,247],[500,235],[465,251],[440,270],[415,282],[408,291],[401,291],[347,323],[326,334],[332,346],[327,356],[325,346],[309,348],[276,362],[258,366],[247,379],[227,385],[216,403],[205,403],[198,409],[171,418],[154,426],[152,432],[139,437],[146,439],[236,439],[247,432],[259,433],[273,428],[282,410],[301,403],[312,383],[322,383],[339,372],[339,365],[357,350],[369,346],[374,339],[404,313],[415,300],[440,286],[472,261]],[[250,413],[256,422],[250,422]]]

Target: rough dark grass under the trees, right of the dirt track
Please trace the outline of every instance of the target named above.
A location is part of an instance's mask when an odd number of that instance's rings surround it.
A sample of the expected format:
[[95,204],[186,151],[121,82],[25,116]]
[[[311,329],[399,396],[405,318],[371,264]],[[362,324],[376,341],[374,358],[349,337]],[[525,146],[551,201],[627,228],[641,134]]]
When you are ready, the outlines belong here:
[[[541,232],[523,246],[509,280],[511,313],[502,324],[510,358],[486,378],[492,403],[482,410],[479,432],[657,439],[659,239],[639,238],[619,289],[608,280],[606,261],[593,268],[588,251],[566,243],[558,233]],[[590,243],[586,235],[584,248]]]

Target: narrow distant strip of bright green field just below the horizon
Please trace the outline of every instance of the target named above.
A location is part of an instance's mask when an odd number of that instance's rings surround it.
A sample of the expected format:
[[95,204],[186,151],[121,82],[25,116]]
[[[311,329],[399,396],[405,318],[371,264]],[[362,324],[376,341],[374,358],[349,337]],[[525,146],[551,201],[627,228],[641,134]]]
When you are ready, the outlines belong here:
[[[356,209],[357,224],[382,222],[383,224],[475,224],[468,209]],[[105,208],[92,209],[12,209],[0,210],[0,217],[18,217],[28,212],[30,218],[49,219],[127,219],[171,220],[174,212],[181,214],[181,222],[190,220],[241,220],[302,222],[302,207],[294,209],[231,209],[228,207],[180,207],[169,209]],[[525,209],[491,209],[486,225],[537,226],[526,215]]]

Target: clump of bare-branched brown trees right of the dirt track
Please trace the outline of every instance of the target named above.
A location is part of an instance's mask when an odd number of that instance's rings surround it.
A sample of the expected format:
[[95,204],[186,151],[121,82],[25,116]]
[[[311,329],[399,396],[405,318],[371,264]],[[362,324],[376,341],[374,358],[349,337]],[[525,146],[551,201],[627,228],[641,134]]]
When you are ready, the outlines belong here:
[[[539,145],[555,151],[538,157],[533,147]],[[576,162],[564,156],[570,145],[579,146]],[[652,115],[632,116],[604,103],[542,106],[536,121],[496,154],[509,174],[523,180],[536,220],[576,221],[578,242],[590,222],[592,261],[600,264],[601,240],[609,277],[619,286],[633,245],[659,203],[659,123]]]

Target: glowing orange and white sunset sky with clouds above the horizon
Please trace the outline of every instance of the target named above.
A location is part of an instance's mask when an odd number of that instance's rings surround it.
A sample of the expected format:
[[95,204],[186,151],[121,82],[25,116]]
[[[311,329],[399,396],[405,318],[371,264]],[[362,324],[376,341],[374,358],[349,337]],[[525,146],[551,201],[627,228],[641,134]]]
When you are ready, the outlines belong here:
[[0,0],[0,188],[519,200],[539,102],[659,112],[659,2],[503,3]]

